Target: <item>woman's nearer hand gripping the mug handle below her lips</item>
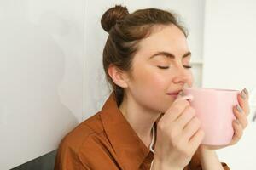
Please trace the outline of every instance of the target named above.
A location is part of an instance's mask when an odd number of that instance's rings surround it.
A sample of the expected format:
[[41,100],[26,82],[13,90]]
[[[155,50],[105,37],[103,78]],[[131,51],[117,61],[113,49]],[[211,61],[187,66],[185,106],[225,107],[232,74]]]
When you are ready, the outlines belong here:
[[201,122],[185,97],[178,97],[157,124],[152,169],[183,169],[204,138]]

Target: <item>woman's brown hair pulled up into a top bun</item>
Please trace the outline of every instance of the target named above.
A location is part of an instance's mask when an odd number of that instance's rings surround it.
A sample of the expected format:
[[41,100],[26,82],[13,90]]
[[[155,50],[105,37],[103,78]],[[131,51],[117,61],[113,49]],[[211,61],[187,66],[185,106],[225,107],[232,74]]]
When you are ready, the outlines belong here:
[[102,15],[102,27],[109,33],[103,50],[103,66],[108,82],[111,83],[117,104],[124,97],[124,89],[116,85],[108,75],[109,65],[122,71],[131,71],[131,63],[137,52],[138,42],[150,35],[153,26],[175,25],[187,37],[187,31],[177,23],[176,14],[157,9],[145,8],[129,14],[126,7],[116,5]]

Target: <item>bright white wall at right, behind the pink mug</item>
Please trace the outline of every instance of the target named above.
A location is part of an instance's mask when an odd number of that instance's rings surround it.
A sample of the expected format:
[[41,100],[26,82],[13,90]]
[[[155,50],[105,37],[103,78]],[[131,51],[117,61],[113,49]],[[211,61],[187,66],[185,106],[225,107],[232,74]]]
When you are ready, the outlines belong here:
[[232,170],[256,167],[256,125],[251,122],[256,105],[255,8],[253,0],[207,0],[205,8],[203,87],[246,87],[251,93],[244,136],[238,144],[218,150],[218,156]]

